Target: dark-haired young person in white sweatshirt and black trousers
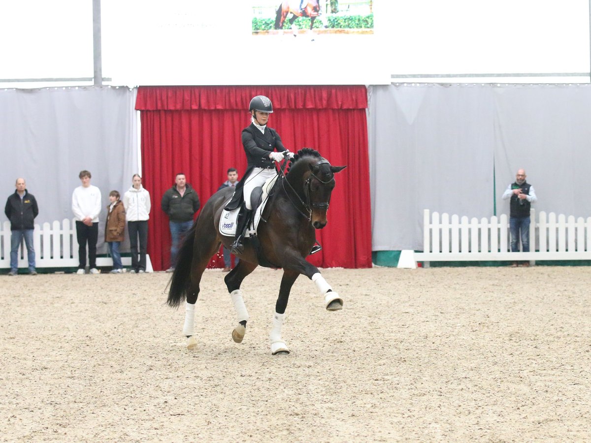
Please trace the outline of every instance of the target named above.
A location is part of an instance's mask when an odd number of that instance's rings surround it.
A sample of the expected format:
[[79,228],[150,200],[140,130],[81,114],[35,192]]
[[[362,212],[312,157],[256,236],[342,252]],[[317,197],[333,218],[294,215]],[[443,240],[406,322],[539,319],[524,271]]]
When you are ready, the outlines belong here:
[[86,269],[86,243],[88,243],[88,261],[91,274],[98,274],[96,269],[96,242],[99,238],[100,190],[90,184],[89,171],[80,171],[78,175],[82,186],[72,193],[72,212],[76,217],[76,238],[78,240],[79,265],[76,273],[83,274]]

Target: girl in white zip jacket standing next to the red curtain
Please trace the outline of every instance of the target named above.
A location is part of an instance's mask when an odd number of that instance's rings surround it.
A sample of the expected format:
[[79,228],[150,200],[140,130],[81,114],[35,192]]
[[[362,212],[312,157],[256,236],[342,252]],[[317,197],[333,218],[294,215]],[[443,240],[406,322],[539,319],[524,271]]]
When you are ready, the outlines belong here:
[[152,204],[150,193],[142,186],[142,178],[139,177],[139,174],[134,174],[132,183],[132,187],[123,196],[123,206],[127,217],[127,232],[131,249],[131,272],[142,273],[146,270],[148,219],[150,219]]

